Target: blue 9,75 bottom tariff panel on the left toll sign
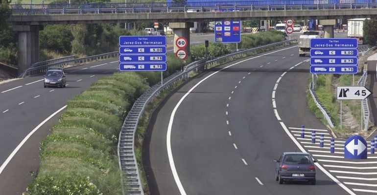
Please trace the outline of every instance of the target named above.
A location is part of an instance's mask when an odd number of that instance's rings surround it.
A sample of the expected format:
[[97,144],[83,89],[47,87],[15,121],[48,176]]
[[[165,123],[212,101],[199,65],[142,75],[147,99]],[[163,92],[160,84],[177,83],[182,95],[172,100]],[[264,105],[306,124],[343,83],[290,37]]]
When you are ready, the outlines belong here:
[[119,63],[121,71],[165,71],[166,63]]

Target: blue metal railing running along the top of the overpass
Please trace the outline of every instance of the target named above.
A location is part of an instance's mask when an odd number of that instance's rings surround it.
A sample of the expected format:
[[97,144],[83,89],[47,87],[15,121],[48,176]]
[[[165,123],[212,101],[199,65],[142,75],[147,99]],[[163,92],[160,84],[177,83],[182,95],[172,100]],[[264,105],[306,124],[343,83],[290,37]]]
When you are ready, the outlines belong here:
[[377,8],[377,0],[241,0],[186,3],[11,4],[9,8],[12,14],[15,15],[360,9]]

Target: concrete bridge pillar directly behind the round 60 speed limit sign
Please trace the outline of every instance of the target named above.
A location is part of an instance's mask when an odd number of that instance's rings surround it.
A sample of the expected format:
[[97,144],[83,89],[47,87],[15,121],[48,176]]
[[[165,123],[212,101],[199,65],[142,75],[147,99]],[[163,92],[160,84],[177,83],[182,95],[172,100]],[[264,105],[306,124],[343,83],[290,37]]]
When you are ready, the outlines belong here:
[[184,37],[187,39],[187,46],[185,50],[188,56],[190,55],[190,28],[194,27],[193,22],[169,22],[169,28],[173,29],[174,32],[174,53],[178,51],[177,45],[175,45],[175,40],[179,37]]

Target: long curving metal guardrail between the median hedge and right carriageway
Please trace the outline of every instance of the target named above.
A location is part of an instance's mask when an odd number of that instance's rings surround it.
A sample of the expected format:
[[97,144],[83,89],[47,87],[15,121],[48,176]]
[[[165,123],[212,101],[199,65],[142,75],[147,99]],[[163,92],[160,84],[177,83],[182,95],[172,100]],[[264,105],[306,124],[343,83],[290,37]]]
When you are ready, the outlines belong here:
[[265,46],[248,49],[245,51],[236,52],[226,56],[222,56],[216,59],[206,61],[206,59],[201,59],[192,62],[184,67],[183,72],[176,72],[163,80],[163,83],[159,82],[156,85],[150,87],[145,91],[140,98],[138,98],[134,105],[132,106],[130,112],[123,122],[122,129],[119,133],[118,142],[118,160],[119,168],[122,170],[123,184],[126,187],[126,192],[129,195],[144,195],[140,174],[138,169],[138,164],[135,156],[135,134],[139,123],[139,120],[144,112],[147,104],[162,90],[169,87],[177,80],[188,79],[191,72],[198,72],[199,68],[204,69],[204,67],[210,65],[217,65],[218,62],[226,63],[239,57],[245,57],[247,53],[255,52],[259,49],[266,49],[275,46],[284,46],[295,40],[286,40],[278,43],[272,43]]

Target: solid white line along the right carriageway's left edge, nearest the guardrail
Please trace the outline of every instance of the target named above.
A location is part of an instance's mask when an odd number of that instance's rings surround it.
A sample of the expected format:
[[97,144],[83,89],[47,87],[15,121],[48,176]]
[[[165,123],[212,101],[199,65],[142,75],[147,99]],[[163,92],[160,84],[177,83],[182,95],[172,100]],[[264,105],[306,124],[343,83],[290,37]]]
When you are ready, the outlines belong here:
[[[177,173],[177,169],[175,168],[175,164],[174,164],[174,159],[173,159],[173,154],[172,154],[172,151],[171,151],[171,129],[172,129],[172,126],[173,126],[173,121],[174,121],[174,117],[175,117],[175,113],[177,112],[178,110],[178,107],[181,105],[181,103],[183,102],[183,100],[197,87],[199,86],[202,82],[204,82],[205,80],[207,80],[208,78],[212,77],[214,74],[224,70],[224,69],[227,69],[229,67],[232,67],[236,64],[239,64],[239,63],[242,63],[242,62],[245,62],[245,61],[248,61],[248,60],[251,60],[251,59],[256,59],[256,58],[259,58],[259,57],[262,57],[262,56],[267,56],[269,54],[274,54],[276,52],[280,52],[280,51],[283,51],[283,50],[287,50],[287,49],[291,49],[291,48],[295,48],[297,46],[293,46],[293,47],[287,47],[287,48],[284,48],[284,49],[281,49],[281,50],[277,50],[277,51],[273,51],[273,52],[270,52],[270,53],[267,53],[267,54],[263,54],[263,55],[260,55],[260,56],[256,56],[256,57],[252,57],[252,58],[249,58],[249,59],[244,59],[244,60],[241,60],[239,62],[236,62],[234,64],[231,64],[229,66],[226,66],[214,73],[212,73],[211,75],[203,78],[202,80],[200,80],[198,83],[196,83],[190,90],[188,90],[188,92],[178,101],[178,103],[175,105],[173,111],[171,112],[171,115],[170,115],[170,119],[169,119],[169,124],[168,124],[168,127],[167,127],[167,132],[166,132],[166,148],[167,148],[167,157],[169,159],[169,165],[170,165],[170,169],[171,169],[171,172],[173,174],[173,177],[174,177],[174,180],[175,180],[175,183],[177,184],[177,187],[179,189],[179,192],[181,193],[181,195],[186,195],[186,191],[185,189],[183,188],[182,186],[182,183],[181,183],[181,180],[179,179],[179,176],[178,176],[178,173]],[[237,88],[237,86],[235,87]],[[300,145],[300,144],[299,144]],[[348,188],[347,188],[348,189]]]

